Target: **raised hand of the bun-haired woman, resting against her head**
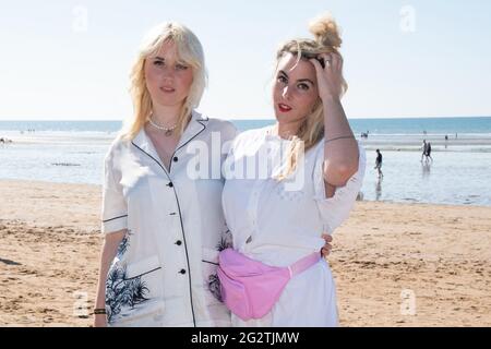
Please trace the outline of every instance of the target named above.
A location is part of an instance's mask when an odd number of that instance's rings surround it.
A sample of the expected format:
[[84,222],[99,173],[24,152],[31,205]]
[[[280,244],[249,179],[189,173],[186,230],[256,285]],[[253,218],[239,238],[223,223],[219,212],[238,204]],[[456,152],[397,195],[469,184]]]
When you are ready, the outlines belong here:
[[343,57],[337,53],[322,53],[324,68],[316,59],[310,59],[315,68],[319,96],[323,101],[327,99],[339,100],[343,95]]

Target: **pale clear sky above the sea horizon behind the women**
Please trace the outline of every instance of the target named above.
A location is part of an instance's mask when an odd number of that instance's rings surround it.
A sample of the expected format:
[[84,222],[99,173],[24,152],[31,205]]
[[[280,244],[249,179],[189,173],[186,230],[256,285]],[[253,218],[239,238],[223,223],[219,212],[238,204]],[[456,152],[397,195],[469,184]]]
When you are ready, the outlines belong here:
[[142,37],[178,21],[203,44],[199,110],[271,119],[278,46],[342,27],[348,118],[491,116],[489,0],[0,0],[0,120],[122,120]]

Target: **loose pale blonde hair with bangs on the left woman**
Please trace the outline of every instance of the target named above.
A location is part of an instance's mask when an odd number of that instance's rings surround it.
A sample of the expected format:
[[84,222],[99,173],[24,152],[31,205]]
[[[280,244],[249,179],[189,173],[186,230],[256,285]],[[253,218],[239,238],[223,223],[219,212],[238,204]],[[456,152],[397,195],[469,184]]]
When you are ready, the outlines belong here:
[[178,118],[179,134],[184,132],[191,120],[192,110],[200,105],[207,82],[204,52],[200,40],[182,24],[169,22],[157,25],[144,37],[131,69],[130,94],[133,100],[133,115],[125,120],[122,130],[122,135],[127,140],[133,140],[136,136],[148,121],[153,110],[152,98],[145,81],[145,61],[156,55],[160,47],[169,40],[176,45],[179,59],[193,70],[190,93]]

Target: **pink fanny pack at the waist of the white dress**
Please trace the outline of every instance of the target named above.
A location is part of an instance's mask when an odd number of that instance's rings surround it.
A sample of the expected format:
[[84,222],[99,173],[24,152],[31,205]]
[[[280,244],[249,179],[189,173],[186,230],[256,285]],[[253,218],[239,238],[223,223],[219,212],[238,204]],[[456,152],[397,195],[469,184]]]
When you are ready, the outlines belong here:
[[243,321],[262,318],[277,302],[289,279],[320,258],[321,253],[314,252],[288,267],[277,267],[226,249],[218,256],[221,300]]

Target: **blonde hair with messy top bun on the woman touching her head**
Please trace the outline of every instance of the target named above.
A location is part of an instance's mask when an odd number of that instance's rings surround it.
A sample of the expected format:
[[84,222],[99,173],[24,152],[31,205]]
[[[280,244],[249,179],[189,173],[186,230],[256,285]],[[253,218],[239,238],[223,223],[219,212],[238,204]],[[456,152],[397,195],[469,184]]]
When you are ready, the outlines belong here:
[[[292,39],[283,44],[276,55],[276,70],[279,60],[287,53],[297,56],[298,60],[315,58],[321,53],[339,53],[343,40],[339,28],[331,16],[323,14],[309,23],[310,33],[314,39]],[[346,81],[343,79],[343,94],[348,89]],[[300,129],[291,140],[289,151],[286,156],[285,170],[277,177],[284,180],[297,169],[301,160],[302,153],[312,148],[324,137],[324,107],[319,97],[312,112],[307,116]],[[303,152],[302,152],[303,149]]]

